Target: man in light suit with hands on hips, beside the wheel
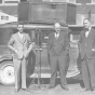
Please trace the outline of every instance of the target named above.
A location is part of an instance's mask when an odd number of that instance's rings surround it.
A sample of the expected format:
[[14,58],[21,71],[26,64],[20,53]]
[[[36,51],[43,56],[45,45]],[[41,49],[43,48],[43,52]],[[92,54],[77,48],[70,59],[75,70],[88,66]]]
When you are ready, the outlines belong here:
[[[22,77],[22,89],[26,90],[26,71],[27,57],[32,50],[32,43],[28,33],[23,32],[24,25],[17,25],[18,31],[11,36],[8,46],[14,52],[14,74],[15,74],[15,93],[19,90],[19,81]],[[22,71],[22,76],[21,76]]]

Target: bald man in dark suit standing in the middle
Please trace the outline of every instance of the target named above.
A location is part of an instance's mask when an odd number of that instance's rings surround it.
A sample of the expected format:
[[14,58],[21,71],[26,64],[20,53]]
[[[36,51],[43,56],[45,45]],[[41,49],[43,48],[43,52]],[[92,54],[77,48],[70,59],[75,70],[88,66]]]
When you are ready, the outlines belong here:
[[49,35],[49,56],[50,56],[50,67],[51,67],[51,80],[50,89],[55,87],[55,80],[57,74],[57,66],[59,67],[60,73],[60,84],[62,87],[66,91],[69,91],[66,80],[66,62],[67,54],[69,50],[69,40],[68,40],[68,29],[60,30],[60,24],[54,24],[55,32]]

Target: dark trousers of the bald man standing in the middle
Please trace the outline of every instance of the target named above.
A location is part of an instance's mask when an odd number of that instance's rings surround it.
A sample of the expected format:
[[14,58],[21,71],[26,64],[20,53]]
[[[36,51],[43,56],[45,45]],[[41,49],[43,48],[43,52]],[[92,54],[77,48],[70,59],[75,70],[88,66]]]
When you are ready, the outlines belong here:
[[55,86],[57,66],[59,67],[60,84],[67,85],[66,80],[66,56],[50,56],[51,62],[51,80],[50,85]]

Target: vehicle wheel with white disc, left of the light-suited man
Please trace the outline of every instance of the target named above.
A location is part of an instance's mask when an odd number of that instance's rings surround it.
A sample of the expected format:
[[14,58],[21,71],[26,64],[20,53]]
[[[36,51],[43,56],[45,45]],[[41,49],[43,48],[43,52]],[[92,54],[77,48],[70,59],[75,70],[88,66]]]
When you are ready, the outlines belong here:
[[12,60],[0,63],[0,83],[3,85],[14,85],[14,66]]

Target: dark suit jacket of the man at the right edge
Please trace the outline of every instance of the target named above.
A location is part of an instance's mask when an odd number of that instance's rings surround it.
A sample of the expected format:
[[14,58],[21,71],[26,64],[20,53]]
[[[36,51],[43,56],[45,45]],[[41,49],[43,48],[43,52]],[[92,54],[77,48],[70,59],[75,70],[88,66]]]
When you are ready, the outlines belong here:
[[79,40],[81,58],[84,58],[85,55],[87,58],[95,58],[95,52],[92,49],[95,49],[95,29],[91,28],[87,38],[85,37],[85,30],[82,30]]

